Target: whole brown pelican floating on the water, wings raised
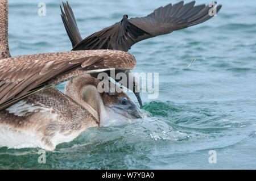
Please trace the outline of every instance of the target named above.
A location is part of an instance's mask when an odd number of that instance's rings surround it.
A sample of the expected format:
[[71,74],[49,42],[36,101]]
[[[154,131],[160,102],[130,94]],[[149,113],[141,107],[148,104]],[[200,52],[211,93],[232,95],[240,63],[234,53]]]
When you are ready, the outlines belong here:
[[[111,96],[100,93],[100,81],[88,75],[133,69],[136,61],[131,54],[79,50],[10,57],[7,16],[8,1],[0,0],[0,146],[53,150],[114,113],[140,117],[130,98],[117,91],[120,88],[115,87]],[[67,95],[53,88],[67,80]]]

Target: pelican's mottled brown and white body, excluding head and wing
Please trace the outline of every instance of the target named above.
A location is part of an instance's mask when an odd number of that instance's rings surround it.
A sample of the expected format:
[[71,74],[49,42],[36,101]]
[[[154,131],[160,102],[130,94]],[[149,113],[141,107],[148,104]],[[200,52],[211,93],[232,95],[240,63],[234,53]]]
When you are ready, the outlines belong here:
[[54,150],[57,144],[72,141],[82,131],[99,124],[92,108],[49,89],[0,111],[0,146]]

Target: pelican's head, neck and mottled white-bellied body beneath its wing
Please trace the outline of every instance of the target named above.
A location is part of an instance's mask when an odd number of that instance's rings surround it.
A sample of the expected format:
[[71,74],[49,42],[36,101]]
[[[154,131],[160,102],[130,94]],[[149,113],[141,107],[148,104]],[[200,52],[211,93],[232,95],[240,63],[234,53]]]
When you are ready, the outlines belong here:
[[[0,147],[54,150],[56,145],[72,141],[86,129],[98,127],[111,118],[115,105],[123,118],[139,117],[140,112],[130,98],[122,91],[117,92],[119,87],[114,95],[100,93],[99,82],[88,74],[81,75],[67,83],[66,94],[57,89],[36,92],[0,111]],[[120,104],[121,98],[130,104]]]

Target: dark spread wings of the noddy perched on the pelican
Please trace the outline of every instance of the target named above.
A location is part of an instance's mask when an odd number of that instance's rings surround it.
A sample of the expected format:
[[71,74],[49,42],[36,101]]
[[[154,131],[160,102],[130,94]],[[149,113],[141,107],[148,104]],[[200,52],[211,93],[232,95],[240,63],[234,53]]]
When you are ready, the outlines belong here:
[[[61,18],[72,42],[72,50],[117,49],[127,52],[138,41],[194,26],[213,17],[213,13],[210,12],[213,10],[212,6],[194,5],[195,1],[185,5],[184,1],[180,1],[175,5],[159,7],[142,18],[127,19],[128,16],[123,15],[120,22],[83,40],[68,2],[63,3],[65,13],[61,9]],[[221,5],[214,6],[214,9],[218,12]]]

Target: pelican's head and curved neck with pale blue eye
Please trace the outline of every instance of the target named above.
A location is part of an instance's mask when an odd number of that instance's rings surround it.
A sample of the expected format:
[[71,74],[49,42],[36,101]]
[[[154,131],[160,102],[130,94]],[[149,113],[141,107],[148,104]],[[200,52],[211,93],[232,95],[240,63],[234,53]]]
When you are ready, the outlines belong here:
[[[115,86],[115,93],[98,91],[100,81],[90,75],[81,75],[69,81],[65,86],[65,94],[88,109],[97,112],[100,122],[117,118],[138,119],[141,112],[136,104],[119,88]],[[109,82],[109,85],[113,83]]]

